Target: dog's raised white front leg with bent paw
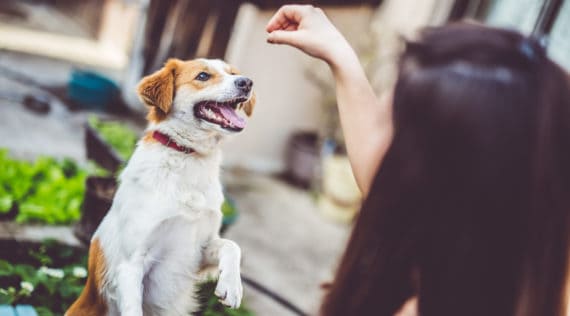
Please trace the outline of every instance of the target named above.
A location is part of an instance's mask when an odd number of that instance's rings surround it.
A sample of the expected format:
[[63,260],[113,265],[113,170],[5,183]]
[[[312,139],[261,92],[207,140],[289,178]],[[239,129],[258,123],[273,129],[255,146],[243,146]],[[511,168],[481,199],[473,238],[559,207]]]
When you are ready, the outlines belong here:
[[220,270],[216,296],[220,298],[222,304],[238,308],[243,297],[239,246],[231,240],[217,237],[207,244],[204,255],[208,264],[217,263]]

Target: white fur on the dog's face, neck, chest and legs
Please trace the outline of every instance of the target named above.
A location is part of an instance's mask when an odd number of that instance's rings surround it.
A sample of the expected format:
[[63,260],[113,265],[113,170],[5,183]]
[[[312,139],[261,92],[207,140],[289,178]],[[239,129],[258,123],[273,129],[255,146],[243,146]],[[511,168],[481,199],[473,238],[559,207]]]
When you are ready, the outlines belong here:
[[222,303],[240,305],[241,251],[218,235],[224,200],[218,145],[231,132],[196,118],[193,111],[199,101],[235,98],[234,81],[240,76],[228,73],[220,60],[201,62],[222,80],[199,91],[180,86],[166,119],[148,127],[196,152],[140,141],[93,237],[106,263],[100,291],[107,315],[188,315],[197,308],[193,297],[205,264],[218,265],[215,293]]

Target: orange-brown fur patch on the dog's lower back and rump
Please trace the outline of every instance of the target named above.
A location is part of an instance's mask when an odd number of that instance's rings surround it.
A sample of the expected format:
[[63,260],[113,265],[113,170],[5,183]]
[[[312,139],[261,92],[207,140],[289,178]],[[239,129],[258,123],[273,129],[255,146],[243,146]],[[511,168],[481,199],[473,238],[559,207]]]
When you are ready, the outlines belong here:
[[100,316],[107,314],[107,304],[101,297],[107,266],[97,238],[89,247],[87,282],[79,298],[65,313],[66,316]]

